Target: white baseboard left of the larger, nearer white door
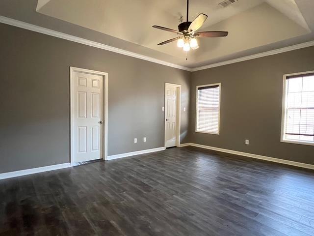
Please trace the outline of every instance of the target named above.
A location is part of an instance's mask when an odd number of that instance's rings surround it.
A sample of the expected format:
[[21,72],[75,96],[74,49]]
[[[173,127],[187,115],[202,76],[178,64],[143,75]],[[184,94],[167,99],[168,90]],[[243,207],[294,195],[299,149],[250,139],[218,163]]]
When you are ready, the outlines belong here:
[[57,164],[57,165],[52,165],[52,166],[43,166],[43,167],[37,167],[37,168],[21,170],[21,171],[12,171],[12,172],[7,172],[7,173],[1,173],[0,179],[26,176],[26,175],[31,175],[35,173],[54,171],[54,170],[59,170],[63,168],[68,168],[68,167],[71,167],[71,163],[63,163],[63,164]]

